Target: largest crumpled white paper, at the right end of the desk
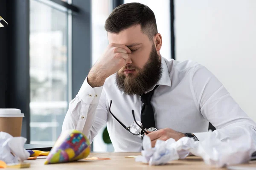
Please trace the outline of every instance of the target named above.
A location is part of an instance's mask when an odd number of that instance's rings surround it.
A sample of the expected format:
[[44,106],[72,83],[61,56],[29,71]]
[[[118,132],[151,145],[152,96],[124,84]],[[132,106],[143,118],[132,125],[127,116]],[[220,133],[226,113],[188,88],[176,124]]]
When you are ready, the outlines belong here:
[[252,129],[244,126],[227,130],[230,130],[230,133],[233,132],[231,139],[227,138],[223,142],[216,139],[215,135],[210,135],[189,151],[196,156],[201,156],[206,164],[215,167],[249,162],[252,153],[256,150],[254,143],[256,136],[252,133]]

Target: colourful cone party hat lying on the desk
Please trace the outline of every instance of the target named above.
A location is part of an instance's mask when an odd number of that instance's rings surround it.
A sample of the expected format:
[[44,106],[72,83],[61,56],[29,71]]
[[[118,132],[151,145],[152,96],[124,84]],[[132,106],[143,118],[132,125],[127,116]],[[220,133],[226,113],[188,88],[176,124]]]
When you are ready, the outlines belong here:
[[78,130],[67,130],[59,136],[44,164],[84,159],[90,154],[90,142]]

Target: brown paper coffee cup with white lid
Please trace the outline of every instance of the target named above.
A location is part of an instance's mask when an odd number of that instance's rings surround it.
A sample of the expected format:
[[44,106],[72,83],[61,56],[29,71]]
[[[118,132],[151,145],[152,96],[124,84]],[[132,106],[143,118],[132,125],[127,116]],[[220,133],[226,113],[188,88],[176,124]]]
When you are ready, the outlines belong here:
[[23,117],[20,109],[0,109],[0,131],[14,137],[21,136]]

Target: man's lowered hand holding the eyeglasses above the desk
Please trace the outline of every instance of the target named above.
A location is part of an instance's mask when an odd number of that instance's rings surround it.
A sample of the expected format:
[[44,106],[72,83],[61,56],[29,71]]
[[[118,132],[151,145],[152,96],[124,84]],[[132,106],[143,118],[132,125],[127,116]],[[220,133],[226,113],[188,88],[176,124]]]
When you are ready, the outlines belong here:
[[175,130],[172,130],[170,128],[165,128],[154,132],[149,132],[147,136],[150,137],[152,147],[154,147],[157,142],[157,139],[166,141],[167,139],[173,138],[175,139],[175,141],[177,141],[186,135],[180,132],[176,132]]

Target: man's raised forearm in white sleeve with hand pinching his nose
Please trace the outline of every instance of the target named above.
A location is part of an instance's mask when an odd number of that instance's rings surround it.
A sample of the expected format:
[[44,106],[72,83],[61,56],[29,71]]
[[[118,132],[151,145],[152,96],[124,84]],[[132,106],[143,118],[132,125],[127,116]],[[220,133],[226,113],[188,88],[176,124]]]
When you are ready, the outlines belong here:
[[107,122],[106,96],[105,91],[102,91],[105,79],[131,62],[129,53],[131,50],[125,45],[108,45],[105,53],[91,68],[76,98],[70,102],[62,131],[79,130],[92,142]]

